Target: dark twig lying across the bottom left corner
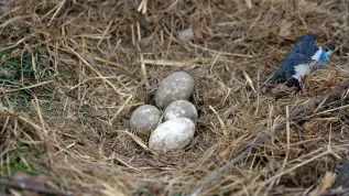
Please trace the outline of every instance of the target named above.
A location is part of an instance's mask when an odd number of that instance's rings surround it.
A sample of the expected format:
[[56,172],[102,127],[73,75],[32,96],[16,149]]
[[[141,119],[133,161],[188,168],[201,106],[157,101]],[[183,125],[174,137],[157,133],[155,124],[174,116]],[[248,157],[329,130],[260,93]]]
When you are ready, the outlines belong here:
[[23,189],[23,190],[30,190],[30,192],[35,192],[35,193],[41,193],[41,194],[50,194],[50,195],[56,195],[56,196],[73,196],[72,193],[61,193],[61,192],[44,188],[41,186],[29,186],[25,183],[14,183],[14,182],[6,181],[6,179],[0,179],[0,186],[7,186],[7,187],[11,187],[11,188],[19,188],[19,189]]

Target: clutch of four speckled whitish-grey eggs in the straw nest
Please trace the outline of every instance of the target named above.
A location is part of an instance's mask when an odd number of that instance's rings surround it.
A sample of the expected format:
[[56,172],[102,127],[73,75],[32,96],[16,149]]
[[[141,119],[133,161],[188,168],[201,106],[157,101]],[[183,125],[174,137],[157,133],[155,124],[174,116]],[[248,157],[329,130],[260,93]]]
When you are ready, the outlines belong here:
[[194,78],[175,72],[164,78],[155,94],[155,106],[137,108],[130,119],[130,129],[150,134],[149,148],[157,153],[182,150],[195,134],[198,118],[196,107],[188,101],[194,91]]

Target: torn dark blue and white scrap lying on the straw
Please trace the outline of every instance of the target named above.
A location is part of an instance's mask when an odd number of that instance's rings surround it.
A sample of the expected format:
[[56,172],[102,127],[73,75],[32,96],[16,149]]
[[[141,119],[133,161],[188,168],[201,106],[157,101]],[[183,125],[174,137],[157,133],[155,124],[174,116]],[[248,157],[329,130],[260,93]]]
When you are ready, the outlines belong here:
[[324,64],[334,50],[335,45],[329,44],[324,51],[315,44],[314,34],[304,35],[298,39],[276,73],[265,84],[286,83],[291,87],[298,87],[304,76],[325,68]]

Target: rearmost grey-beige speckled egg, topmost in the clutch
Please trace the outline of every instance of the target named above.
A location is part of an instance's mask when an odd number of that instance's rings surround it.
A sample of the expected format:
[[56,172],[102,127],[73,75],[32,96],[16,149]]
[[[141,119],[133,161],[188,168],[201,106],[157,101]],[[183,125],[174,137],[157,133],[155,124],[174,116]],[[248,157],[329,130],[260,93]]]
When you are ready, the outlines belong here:
[[175,72],[163,79],[155,94],[155,105],[163,109],[175,100],[188,100],[194,91],[194,78],[184,72]]

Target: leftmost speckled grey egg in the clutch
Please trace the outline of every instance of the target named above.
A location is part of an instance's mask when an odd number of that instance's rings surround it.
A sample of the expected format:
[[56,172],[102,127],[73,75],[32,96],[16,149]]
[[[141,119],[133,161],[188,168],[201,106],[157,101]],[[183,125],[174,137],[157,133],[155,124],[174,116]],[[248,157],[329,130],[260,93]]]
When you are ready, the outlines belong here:
[[137,108],[130,119],[130,128],[140,133],[150,133],[161,119],[160,110],[151,105]]

